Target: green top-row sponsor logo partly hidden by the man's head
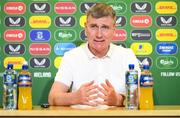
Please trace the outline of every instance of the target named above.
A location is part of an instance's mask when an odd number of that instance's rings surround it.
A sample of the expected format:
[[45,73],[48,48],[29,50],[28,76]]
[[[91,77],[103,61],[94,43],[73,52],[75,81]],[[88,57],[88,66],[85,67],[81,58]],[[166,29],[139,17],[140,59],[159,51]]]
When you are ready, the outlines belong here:
[[127,6],[124,2],[109,2],[108,4],[115,10],[117,15],[126,12]]

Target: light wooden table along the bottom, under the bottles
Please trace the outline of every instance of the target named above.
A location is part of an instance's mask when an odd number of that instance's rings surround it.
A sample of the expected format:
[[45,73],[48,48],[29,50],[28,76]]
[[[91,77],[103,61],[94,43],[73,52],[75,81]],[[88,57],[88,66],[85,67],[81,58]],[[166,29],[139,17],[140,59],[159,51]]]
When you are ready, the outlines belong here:
[[[49,108],[33,107],[33,110],[3,110],[0,108],[0,117],[74,117],[74,116],[106,116],[106,117],[180,117],[180,106],[155,106],[154,110],[126,110],[123,107],[102,109],[74,109],[71,107],[50,106]],[[66,117],[67,118],[67,117]]]

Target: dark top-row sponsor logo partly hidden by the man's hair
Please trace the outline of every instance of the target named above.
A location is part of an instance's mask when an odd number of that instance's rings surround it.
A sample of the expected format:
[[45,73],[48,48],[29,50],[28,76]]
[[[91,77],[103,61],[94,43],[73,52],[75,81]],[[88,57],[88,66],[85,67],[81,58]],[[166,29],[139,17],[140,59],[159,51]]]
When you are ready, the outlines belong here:
[[89,8],[91,8],[92,6],[94,6],[95,4],[96,4],[95,2],[83,2],[83,3],[81,3],[81,5],[80,5],[81,12],[86,13],[87,10]]

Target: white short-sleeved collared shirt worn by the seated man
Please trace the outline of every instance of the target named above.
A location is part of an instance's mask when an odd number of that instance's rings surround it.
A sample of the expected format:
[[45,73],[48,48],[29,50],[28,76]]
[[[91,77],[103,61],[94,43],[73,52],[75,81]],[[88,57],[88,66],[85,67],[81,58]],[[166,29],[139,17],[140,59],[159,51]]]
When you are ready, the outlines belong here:
[[108,79],[116,92],[125,94],[125,73],[129,64],[134,64],[140,75],[137,58],[131,49],[110,44],[107,55],[98,58],[85,44],[65,53],[55,81],[69,87],[73,82],[72,91],[76,91],[83,83],[94,80],[100,84]]

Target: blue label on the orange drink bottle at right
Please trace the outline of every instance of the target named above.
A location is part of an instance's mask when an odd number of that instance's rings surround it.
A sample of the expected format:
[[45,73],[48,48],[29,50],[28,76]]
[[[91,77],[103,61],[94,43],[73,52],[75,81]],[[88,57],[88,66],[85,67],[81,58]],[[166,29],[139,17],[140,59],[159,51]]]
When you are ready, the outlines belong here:
[[153,78],[152,78],[152,76],[150,76],[150,75],[141,75],[140,86],[141,87],[152,87],[153,86]]

